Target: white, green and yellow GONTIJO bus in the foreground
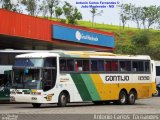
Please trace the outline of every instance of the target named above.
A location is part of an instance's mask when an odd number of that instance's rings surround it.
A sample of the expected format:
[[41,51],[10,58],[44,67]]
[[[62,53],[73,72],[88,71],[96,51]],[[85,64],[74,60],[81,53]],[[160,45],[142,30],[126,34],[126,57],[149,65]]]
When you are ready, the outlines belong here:
[[149,56],[105,52],[52,51],[16,56],[12,102],[42,103],[92,101],[134,104],[155,92]]

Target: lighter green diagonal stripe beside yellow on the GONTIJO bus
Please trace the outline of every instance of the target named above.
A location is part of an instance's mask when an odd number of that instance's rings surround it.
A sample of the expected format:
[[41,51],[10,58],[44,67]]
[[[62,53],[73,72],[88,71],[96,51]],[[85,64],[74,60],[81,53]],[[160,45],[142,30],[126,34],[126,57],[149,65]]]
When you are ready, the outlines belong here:
[[89,74],[81,74],[82,78],[83,78],[83,81],[89,91],[89,94],[91,95],[92,97],[92,100],[93,101],[96,101],[96,100],[100,100],[100,96],[97,92],[97,89],[91,79],[91,77],[89,76]]

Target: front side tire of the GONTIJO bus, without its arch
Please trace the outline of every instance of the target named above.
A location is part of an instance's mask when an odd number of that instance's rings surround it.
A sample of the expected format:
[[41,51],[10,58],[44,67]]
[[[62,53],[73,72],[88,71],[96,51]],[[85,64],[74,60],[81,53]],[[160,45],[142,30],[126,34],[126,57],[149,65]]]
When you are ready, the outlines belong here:
[[62,92],[58,98],[58,106],[65,107],[68,102],[68,96],[65,92]]

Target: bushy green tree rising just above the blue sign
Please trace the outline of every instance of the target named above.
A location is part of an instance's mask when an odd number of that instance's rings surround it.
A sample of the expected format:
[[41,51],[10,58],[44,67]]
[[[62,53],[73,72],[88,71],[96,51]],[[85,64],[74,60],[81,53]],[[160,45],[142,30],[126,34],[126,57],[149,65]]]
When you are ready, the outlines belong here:
[[82,19],[82,14],[76,7],[73,7],[70,3],[65,1],[62,9],[69,24],[76,24],[77,20]]

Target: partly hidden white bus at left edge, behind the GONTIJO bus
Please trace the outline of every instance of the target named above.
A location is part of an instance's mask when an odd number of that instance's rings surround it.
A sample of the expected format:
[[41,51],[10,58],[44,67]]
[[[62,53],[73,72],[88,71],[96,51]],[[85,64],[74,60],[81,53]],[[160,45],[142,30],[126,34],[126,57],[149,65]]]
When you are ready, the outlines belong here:
[[0,100],[9,100],[9,88],[12,86],[12,66],[16,55],[44,50],[0,50]]

